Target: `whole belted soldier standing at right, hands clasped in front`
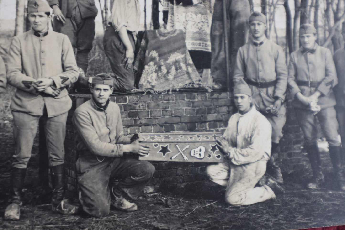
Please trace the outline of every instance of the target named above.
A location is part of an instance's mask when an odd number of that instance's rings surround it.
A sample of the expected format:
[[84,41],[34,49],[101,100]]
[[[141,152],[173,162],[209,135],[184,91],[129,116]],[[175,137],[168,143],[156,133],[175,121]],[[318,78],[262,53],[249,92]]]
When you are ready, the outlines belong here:
[[304,134],[305,151],[313,169],[310,189],[324,183],[320,152],[317,146],[317,122],[329,145],[336,179],[341,190],[345,190],[345,178],[341,168],[341,147],[338,141],[338,123],[333,87],[338,83],[331,51],[318,46],[316,29],[311,24],[299,28],[302,47],[291,54],[288,69],[288,86],[292,104],[298,114],[298,122]]

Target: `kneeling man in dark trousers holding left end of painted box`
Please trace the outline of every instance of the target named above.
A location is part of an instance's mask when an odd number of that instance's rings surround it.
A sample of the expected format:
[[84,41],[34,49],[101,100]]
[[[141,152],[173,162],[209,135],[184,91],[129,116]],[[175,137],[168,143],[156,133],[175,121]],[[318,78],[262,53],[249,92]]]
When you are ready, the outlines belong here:
[[[79,158],[79,201],[91,216],[109,214],[110,206],[122,211],[135,211],[135,200],[155,172],[148,161],[126,157],[128,153],[145,156],[150,149],[139,140],[124,135],[119,106],[109,101],[113,79],[98,74],[92,79],[91,100],[79,106],[73,115],[77,130]],[[117,185],[109,183],[117,179]]]

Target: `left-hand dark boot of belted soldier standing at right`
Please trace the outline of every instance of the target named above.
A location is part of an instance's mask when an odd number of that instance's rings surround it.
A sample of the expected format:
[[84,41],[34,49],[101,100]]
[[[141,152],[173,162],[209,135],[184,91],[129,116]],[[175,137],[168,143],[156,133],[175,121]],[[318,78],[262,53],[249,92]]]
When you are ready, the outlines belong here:
[[307,184],[309,189],[318,189],[325,183],[325,178],[322,173],[321,157],[317,144],[309,144],[305,146],[308,153],[308,158],[313,170],[312,181]]

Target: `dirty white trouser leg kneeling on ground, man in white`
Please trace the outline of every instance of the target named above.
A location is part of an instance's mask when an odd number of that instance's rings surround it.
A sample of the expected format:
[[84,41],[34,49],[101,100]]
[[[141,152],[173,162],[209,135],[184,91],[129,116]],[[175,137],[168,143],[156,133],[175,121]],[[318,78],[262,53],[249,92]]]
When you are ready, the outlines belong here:
[[254,187],[266,171],[266,161],[250,164],[230,164],[230,180],[225,192],[227,203],[240,206],[263,202],[275,198],[275,194],[267,185]]

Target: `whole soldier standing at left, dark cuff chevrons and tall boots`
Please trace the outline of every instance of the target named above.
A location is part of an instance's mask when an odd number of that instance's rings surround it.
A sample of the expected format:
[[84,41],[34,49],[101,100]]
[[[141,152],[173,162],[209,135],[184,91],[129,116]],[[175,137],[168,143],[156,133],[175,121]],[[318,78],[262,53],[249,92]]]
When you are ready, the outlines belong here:
[[10,107],[17,149],[11,169],[10,204],[4,213],[7,220],[20,217],[21,191],[41,116],[52,173],[52,210],[56,210],[63,199],[63,141],[68,110],[72,106],[65,87],[78,78],[76,59],[68,37],[48,30],[51,20],[48,3],[30,0],[28,18],[31,29],[13,37],[6,63],[8,84],[17,88]]

